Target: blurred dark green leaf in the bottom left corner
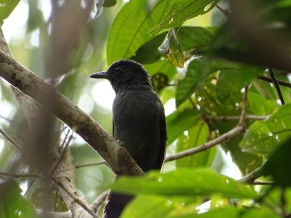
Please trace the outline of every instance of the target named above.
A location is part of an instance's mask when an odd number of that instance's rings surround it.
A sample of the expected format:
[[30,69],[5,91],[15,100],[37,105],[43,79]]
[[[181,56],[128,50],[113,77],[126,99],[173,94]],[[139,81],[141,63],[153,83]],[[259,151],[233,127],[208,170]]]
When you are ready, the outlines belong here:
[[20,194],[14,180],[1,181],[0,218],[36,218],[34,208]]

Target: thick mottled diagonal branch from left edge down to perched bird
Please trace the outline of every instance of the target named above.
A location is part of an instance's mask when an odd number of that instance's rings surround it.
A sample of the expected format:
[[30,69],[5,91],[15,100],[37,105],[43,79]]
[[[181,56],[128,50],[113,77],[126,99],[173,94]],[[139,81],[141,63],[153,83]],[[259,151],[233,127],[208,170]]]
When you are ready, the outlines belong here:
[[0,76],[41,104],[46,103],[46,99],[43,98],[46,93],[54,92],[54,114],[70,128],[75,128],[76,133],[102,156],[116,175],[144,174],[126,149],[119,146],[95,120],[2,51],[0,51]]

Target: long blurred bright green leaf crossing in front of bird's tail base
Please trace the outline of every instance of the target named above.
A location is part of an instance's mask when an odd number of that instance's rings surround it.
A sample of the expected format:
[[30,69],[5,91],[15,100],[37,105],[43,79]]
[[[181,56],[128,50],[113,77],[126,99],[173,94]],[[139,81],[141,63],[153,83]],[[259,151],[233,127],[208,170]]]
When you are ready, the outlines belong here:
[[122,176],[111,186],[114,192],[156,195],[210,195],[228,198],[257,198],[257,193],[227,176],[207,169],[178,169],[160,174],[150,171],[145,176]]

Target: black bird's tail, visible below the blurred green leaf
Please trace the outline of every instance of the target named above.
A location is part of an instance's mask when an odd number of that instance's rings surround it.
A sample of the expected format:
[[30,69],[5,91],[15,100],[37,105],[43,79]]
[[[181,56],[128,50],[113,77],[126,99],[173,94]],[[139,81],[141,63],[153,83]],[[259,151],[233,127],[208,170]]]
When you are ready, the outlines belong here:
[[103,211],[103,218],[119,218],[124,207],[133,199],[132,195],[109,192]]

